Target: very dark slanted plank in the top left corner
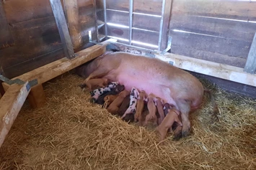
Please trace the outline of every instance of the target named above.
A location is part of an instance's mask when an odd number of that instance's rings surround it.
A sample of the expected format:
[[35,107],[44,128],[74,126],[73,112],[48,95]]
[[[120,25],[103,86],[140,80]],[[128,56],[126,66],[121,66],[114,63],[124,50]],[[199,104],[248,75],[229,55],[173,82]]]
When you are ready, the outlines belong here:
[[0,23],[0,49],[13,46],[14,40],[12,39],[12,34],[9,30],[9,24],[6,20],[6,15],[4,13],[4,6],[2,1],[0,1]]

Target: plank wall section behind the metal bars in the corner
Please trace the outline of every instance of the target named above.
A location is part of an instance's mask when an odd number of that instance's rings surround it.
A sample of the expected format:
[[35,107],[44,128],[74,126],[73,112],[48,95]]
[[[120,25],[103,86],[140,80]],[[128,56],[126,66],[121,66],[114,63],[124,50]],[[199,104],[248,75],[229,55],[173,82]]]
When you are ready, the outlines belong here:
[[[118,37],[128,44],[129,36],[129,0],[107,0],[107,23],[121,24],[116,27],[107,24],[107,35]],[[97,1],[98,19],[104,22],[103,2]],[[160,21],[162,14],[162,0],[133,0],[133,35],[132,40],[158,45]],[[154,16],[150,16],[154,15]],[[105,34],[104,29],[99,29],[100,34]],[[132,43],[137,47],[145,47],[141,44]],[[157,47],[147,47],[157,49]]]

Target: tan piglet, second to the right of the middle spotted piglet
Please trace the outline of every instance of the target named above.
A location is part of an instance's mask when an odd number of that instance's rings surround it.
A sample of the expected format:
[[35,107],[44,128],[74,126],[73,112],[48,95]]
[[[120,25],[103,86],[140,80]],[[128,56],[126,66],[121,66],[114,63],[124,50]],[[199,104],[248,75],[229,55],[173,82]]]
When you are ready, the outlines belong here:
[[146,115],[146,118],[144,121],[144,126],[146,126],[149,123],[149,121],[153,121],[154,126],[157,125],[156,105],[154,103],[154,98],[155,98],[155,96],[152,93],[150,93],[149,97],[148,97],[148,103],[147,103],[147,107],[149,109],[149,114]]

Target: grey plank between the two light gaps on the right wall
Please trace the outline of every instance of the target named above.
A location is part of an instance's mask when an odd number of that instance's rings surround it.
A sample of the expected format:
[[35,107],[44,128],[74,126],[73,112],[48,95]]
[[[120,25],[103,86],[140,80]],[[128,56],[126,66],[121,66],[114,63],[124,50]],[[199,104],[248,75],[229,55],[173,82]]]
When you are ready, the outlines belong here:
[[256,23],[172,14],[169,29],[179,29],[186,32],[209,34],[252,42],[256,30]]

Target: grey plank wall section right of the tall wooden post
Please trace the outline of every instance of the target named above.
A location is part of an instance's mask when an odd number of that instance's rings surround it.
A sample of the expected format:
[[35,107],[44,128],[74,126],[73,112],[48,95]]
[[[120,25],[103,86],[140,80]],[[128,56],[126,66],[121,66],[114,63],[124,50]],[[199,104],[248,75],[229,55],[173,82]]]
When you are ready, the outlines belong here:
[[256,32],[256,1],[174,0],[172,53],[244,67]]

